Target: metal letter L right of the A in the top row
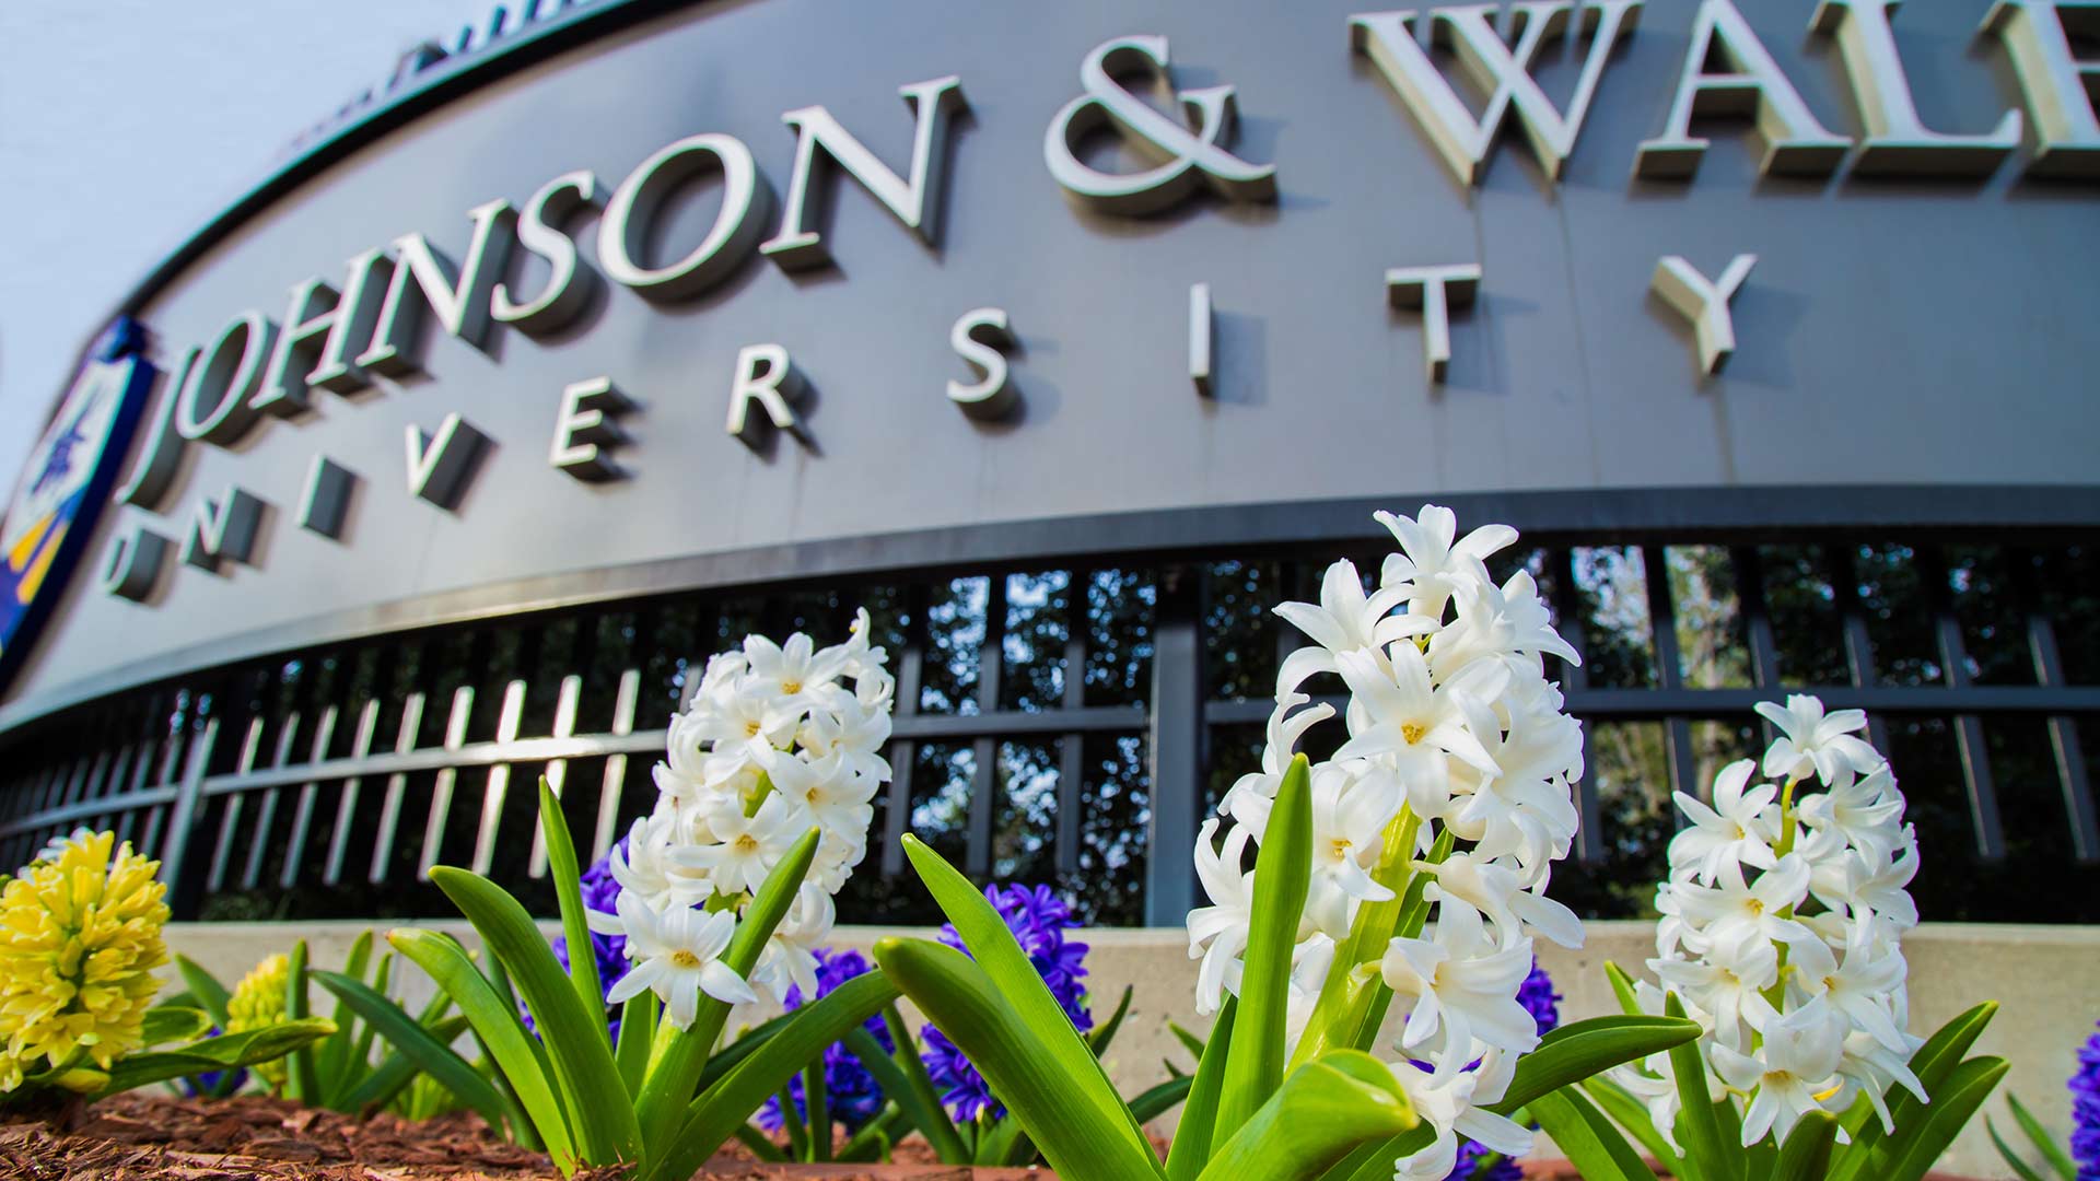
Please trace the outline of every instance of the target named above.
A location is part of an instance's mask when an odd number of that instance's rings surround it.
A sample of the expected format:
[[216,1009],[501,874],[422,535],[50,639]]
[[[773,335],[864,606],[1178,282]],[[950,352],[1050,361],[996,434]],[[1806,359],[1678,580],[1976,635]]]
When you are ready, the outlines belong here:
[[1942,134],[1926,128],[1911,101],[1911,80],[1888,19],[1903,0],[1823,0],[1808,27],[1838,38],[1858,118],[1867,124],[1854,174],[1989,177],[2020,147],[2020,111],[2006,111],[1991,134]]

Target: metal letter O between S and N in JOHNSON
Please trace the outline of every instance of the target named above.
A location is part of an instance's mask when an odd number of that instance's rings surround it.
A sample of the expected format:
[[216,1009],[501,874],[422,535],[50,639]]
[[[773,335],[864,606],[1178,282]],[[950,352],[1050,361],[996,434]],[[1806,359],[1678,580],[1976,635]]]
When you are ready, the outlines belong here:
[[[670,267],[643,267],[634,246],[649,229],[664,198],[691,177],[722,170],[722,212],[691,254]],[[598,265],[613,282],[651,298],[682,298],[708,290],[743,265],[764,233],[760,223],[771,193],[760,183],[752,149],[731,134],[693,134],[643,160],[613,189],[598,221]]]

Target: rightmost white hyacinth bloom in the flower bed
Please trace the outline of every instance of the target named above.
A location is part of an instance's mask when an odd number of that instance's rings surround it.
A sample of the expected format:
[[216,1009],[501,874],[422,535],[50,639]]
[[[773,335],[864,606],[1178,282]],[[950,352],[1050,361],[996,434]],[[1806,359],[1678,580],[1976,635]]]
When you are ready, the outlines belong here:
[[[1861,710],[1796,693],[1758,712],[1781,729],[1762,759],[1781,782],[1751,784],[1743,761],[1720,773],[1712,805],[1678,792],[1693,828],[1670,843],[1648,967],[1705,1025],[1709,1091],[1745,1099],[1745,1145],[1858,1099],[1890,1126],[1892,1086],[1924,1097],[1907,1065],[1924,1042],[1907,1030],[1900,948],[1917,925],[1917,836],[1888,761],[1858,738]],[[1613,1078],[1670,1128],[1667,1059]]]

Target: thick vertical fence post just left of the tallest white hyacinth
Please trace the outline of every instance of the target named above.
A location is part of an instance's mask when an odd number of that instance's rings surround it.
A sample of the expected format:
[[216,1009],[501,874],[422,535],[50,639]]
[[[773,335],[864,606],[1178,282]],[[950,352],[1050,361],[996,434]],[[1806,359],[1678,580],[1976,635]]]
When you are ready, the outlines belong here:
[[1203,580],[1195,567],[1159,572],[1153,618],[1153,824],[1144,851],[1144,925],[1174,927],[1195,906],[1195,847],[1203,799]]

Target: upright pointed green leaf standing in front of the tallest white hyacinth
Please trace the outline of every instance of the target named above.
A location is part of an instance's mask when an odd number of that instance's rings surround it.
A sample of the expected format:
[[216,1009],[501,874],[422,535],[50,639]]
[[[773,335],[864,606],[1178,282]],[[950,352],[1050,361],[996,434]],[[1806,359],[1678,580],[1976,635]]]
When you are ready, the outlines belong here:
[[1239,1019],[1233,1053],[1224,1059],[1224,1091],[1212,1137],[1226,1141],[1283,1082],[1285,1007],[1292,998],[1292,950],[1298,918],[1312,883],[1310,763],[1292,757],[1268,811],[1262,851],[1254,859],[1254,914],[1247,929],[1245,971],[1239,977]]

